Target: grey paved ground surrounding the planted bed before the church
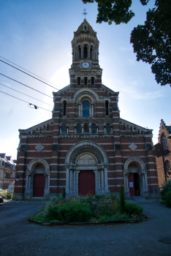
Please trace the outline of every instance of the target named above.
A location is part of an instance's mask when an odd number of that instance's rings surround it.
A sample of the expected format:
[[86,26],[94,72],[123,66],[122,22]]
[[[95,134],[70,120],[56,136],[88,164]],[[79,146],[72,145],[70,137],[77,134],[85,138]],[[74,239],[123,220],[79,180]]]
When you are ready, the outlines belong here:
[[139,203],[148,222],[42,227],[26,222],[42,203],[6,203],[0,211],[0,255],[171,255],[171,208]]

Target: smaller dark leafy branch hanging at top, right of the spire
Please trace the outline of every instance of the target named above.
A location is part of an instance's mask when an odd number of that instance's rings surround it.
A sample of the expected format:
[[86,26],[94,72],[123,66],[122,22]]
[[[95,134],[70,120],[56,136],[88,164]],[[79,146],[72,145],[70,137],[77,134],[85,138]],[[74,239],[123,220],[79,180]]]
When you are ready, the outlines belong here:
[[[134,17],[134,12],[129,10],[132,6],[132,0],[82,0],[84,4],[98,4],[98,15],[96,23],[108,22],[112,24],[128,23]],[[137,1],[137,0],[135,0]],[[146,5],[149,0],[140,0],[142,5]]]

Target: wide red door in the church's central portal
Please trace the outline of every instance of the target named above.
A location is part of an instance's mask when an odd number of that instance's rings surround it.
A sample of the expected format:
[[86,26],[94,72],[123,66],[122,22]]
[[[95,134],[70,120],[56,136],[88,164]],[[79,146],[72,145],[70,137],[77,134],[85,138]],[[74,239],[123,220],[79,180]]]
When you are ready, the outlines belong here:
[[81,170],[78,174],[78,195],[95,195],[95,173],[93,170]]

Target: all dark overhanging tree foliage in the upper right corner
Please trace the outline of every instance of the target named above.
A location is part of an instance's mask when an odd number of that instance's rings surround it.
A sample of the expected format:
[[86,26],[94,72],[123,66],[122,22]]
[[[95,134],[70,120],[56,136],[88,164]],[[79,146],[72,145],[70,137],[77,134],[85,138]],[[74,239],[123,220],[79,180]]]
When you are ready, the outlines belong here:
[[[128,23],[134,17],[129,10],[132,0],[82,0],[98,3],[96,22]],[[149,0],[140,0],[142,5]],[[151,71],[161,86],[171,86],[171,0],[156,0],[155,7],[147,12],[145,25],[138,25],[131,33],[137,61],[151,64]]]

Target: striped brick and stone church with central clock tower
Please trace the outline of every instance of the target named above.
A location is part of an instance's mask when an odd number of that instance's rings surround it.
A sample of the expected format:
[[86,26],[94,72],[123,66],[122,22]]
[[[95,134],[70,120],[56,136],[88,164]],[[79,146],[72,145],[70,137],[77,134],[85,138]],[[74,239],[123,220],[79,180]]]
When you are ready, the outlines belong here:
[[[53,116],[19,129],[15,198],[148,197],[158,187],[152,129],[120,117],[118,92],[102,84],[99,40],[86,21],[72,39],[70,84],[53,92]],[[111,74],[112,75],[112,74]]]

